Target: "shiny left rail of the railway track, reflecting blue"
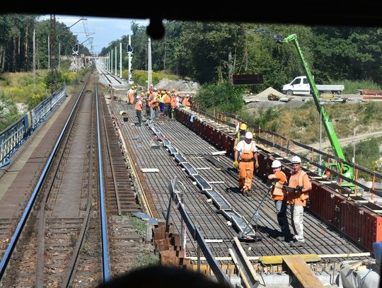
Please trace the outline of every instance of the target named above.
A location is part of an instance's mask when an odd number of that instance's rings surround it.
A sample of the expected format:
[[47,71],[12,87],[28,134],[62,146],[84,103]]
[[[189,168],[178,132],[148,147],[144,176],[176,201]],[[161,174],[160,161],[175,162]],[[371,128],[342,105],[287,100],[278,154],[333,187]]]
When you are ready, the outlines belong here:
[[[87,82],[88,82],[88,79],[86,79],[86,83]],[[81,93],[83,92],[84,88],[85,88],[85,86],[83,86]],[[81,93],[80,93],[80,95],[81,95]],[[71,117],[72,117],[72,115],[74,113],[76,105],[77,105],[77,103],[79,103],[79,99],[80,98],[77,98],[76,103],[74,103],[74,107],[71,109],[71,112],[69,113],[69,116],[68,116],[68,118],[67,118],[67,120],[66,120],[66,122],[64,124],[64,127],[62,128],[62,131],[59,134],[59,138],[57,139],[56,144],[54,144],[54,147],[52,149],[52,153],[50,154],[50,157],[47,160],[47,163],[46,163],[44,169],[42,170],[40,178],[37,181],[35,189],[33,190],[32,195],[30,196],[30,199],[28,200],[28,204],[25,207],[23,215],[21,216],[20,221],[18,221],[18,225],[16,227],[16,231],[14,232],[14,234],[13,234],[13,236],[11,238],[11,241],[8,243],[8,246],[7,246],[7,248],[6,248],[5,252],[4,252],[3,257],[1,258],[1,262],[0,262],[0,280],[4,276],[4,273],[6,272],[6,267],[8,265],[9,259],[11,258],[11,255],[12,255],[12,252],[13,252],[14,248],[16,247],[16,243],[18,241],[18,238],[21,235],[21,231],[23,231],[23,227],[25,226],[25,223],[26,223],[26,221],[28,219],[28,216],[29,216],[30,212],[33,209],[33,205],[35,203],[35,200],[36,200],[36,197],[38,195],[38,192],[40,191],[40,188],[42,186],[42,182],[45,179],[45,175],[47,175],[47,171],[50,168],[50,165],[52,163],[52,159],[54,158],[54,156],[56,154],[57,148],[59,147],[59,144],[61,144],[62,138],[63,138],[63,136],[64,136],[64,134],[66,132],[66,127],[69,125],[69,122],[70,122]]]

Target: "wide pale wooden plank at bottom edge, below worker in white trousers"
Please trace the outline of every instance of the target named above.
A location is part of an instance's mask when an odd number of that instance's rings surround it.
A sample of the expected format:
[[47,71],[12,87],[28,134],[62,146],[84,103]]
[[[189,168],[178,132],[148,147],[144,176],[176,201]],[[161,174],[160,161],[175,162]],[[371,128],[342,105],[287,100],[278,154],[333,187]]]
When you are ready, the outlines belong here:
[[318,279],[313,271],[309,268],[302,257],[284,256],[284,263],[288,265],[291,272],[296,276],[302,287],[306,288],[323,288],[323,283]]

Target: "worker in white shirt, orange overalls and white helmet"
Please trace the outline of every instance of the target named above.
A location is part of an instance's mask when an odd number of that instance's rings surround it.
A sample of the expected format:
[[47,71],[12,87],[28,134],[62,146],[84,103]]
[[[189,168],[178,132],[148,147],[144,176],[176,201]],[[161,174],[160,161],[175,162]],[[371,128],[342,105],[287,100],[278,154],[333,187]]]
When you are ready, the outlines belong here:
[[235,148],[235,161],[233,166],[239,169],[238,184],[241,193],[250,191],[252,187],[253,171],[259,166],[257,159],[257,147],[253,142],[253,134],[245,133],[245,139],[238,142]]

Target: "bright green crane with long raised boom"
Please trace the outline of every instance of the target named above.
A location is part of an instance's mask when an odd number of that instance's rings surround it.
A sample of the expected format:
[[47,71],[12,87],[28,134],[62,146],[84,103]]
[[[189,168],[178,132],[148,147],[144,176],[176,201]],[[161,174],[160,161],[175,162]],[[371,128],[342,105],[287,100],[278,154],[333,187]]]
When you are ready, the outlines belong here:
[[[279,41],[279,38],[277,39],[278,39],[277,41]],[[282,43],[289,43],[289,42],[293,42],[294,46],[297,49],[297,52],[299,53],[299,57],[303,64],[303,68],[306,71],[306,78],[308,79],[309,85],[311,86],[311,90],[313,92],[312,94],[313,94],[314,103],[316,104],[316,107],[318,111],[320,112],[321,120],[323,121],[326,134],[328,134],[330,144],[332,144],[332,149],[335,152],[335,156],[337,156],[340,159],[346,160],[345,155],[342,152],[340,142],[338,142],[337,135],[335,134],[335,130],[332,125],[332,122],[330,121],[330,117],[328,113],[326,112],[325,106],[320,104],[320,93],[318,92],[316,83],[314,82],[313,76],[311,74],[311,69],[309,69],[308,63],[303,57],[303,52],[301,50],[299,42],[297,41],[297,35],[292,34],[282,40]],[[345,177],[354,180],[353,168],[347,165],[346,163],[342,163],[342,167],[339,163],[330,163],[330,166],[328,168],[330,168],[330,170],[336,171],[337,173],[342,173],[342,175],[344,175]],[[349,183],[345,180],[342,182],[342,186],[354,189],[354,184]]]

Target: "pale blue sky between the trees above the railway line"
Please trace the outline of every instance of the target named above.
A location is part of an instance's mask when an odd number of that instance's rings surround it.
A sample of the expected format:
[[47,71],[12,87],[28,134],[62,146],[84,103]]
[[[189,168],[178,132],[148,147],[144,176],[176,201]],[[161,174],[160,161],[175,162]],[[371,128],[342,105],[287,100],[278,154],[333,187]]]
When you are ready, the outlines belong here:
[[[81,20],[86,18],[86,20]],[[44,16],[41,19],[50,19],[50,16]],[[64,16],[56,15],[56,21],[62,22],[66,26],[71,26],[76,21],[79,21],[70,28],[80,43],[93,37],[93,52],[99,53],[103,47],[107,47],[110,42],[122,38],[123,35],[132,35],[130,28],[132,21],[138,25],[149,25],[149,19],[129,19],[129,18],[106,18],[106,17],[88,17],[88,16]],[[94,33],[94,34],[93,34]],[[88,36],[86,36],[88,35]],[[89,40],[83,45],[88,45],[88,50],[91,50]]]

